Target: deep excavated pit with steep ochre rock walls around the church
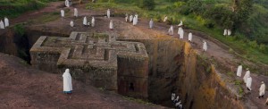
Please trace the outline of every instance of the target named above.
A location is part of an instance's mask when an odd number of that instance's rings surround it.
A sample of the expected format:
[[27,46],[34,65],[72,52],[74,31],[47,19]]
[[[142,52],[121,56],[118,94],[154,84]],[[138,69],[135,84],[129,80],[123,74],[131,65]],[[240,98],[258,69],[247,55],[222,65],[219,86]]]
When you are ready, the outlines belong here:
[[[0,52],[16,55],[29,63],[29,49],[40,36],[69,37],[37,30],[27,30],[23,36],[17,36],[9,30],[0,36]],[[171,94],[174,92],[186,109],[243,108],[226,89],[214,66],[204,55],[197,55],[189,43],[175,38],[123,40],[146,46],[149,102],[173,107]]]

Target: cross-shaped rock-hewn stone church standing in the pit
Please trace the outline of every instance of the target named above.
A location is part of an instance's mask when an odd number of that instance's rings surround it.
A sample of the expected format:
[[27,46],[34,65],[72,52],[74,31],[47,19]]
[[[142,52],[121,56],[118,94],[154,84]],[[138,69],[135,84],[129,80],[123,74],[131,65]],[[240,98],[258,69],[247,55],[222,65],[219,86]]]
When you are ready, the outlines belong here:
[[31,64],[39,70],[63,72],[69,68],[77,80],[147,98],[148,55],[142,43],[72,32],[70,38],[40,37],[30,55]]

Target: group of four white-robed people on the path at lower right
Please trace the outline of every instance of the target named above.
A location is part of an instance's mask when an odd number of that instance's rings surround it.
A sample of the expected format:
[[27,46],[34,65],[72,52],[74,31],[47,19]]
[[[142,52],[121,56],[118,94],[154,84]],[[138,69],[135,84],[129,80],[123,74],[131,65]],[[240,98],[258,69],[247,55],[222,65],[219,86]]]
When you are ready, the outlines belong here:
[[[238,77],[241,77],[242,71],[243,71],[242,70],[242,65],[240,64],[239,67],[238,67],[238,71],[237,71],[237,76]],[[244,83],[246,83],[247,89],[249,91],[251,91],[252,90],[252,88],[251,88],[252,78],[250,76],[250,71],[249,71],[248,68],[247,68],[247,71],[246,71],[246,73],[245,73],[245,75],[243,77],[243,81],[244,81]],[[259,88],[259,96],[257,98],[261,98],[261,97],[264,98],[264,93],[265,93],[265,84],[264,84],[264,81],[262,81],[261,86]],[[268,98],[267,98],[267,100],[268,100]]]

